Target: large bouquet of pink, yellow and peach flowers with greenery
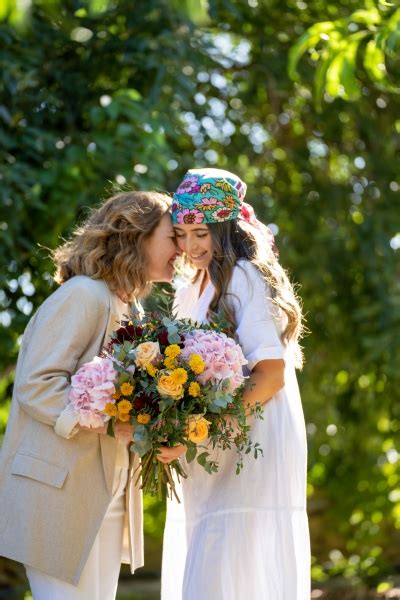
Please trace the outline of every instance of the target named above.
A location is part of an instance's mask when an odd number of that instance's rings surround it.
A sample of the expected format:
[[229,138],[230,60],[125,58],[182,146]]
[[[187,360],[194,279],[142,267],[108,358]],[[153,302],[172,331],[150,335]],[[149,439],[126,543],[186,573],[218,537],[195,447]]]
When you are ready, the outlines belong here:
[[[173,471],[186,477],[179,460],[157,460],[163,445],[184,444],[187,461],[197,458],[209,473],[218,470],[210,448],[234,447],[237,473],[244,453],[261,452],[249,437],[242,402],[245,364],[240,346],[215,323],[130,321],[72,376],[70,401],[81,424],[108,423],[110,435],[118,420],[132,423],[131,450],[142,457],[138,479],[146,493],[162,497],[165,486],[175,493]],[[251,412],[261,416],[259,406]]]

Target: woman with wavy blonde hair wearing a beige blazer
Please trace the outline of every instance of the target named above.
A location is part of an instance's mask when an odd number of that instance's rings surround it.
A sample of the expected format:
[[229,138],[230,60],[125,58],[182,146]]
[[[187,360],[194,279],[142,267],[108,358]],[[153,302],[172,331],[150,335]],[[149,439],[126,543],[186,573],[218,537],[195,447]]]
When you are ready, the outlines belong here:
[[25,565],[35,600],[113,600],[120,564],[143,564],[131,426],[85,429],[68,406],[71,375],[98,355],[177,254],[170,200],[108,199],[53,252],[62,284],[21,343],[0,460],[0,555]]

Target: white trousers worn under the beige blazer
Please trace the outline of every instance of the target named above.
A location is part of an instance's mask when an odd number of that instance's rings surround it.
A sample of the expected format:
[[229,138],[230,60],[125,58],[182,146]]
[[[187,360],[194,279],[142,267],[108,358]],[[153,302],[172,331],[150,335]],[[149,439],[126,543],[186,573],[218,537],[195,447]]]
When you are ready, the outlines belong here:
[[77,586],[25,565],[33,600],[115,600],[121,568],[128,469],[117,468],[113,497]]

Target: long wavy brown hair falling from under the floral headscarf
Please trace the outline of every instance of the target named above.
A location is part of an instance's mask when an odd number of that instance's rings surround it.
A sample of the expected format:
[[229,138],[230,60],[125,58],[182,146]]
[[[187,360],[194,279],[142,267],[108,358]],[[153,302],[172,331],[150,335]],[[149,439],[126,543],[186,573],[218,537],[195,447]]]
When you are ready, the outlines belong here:
[[208,272],[215,288],[208,317],[212,318],[213,315],[222,313],[232,329],[236,328],[228,285],[238,260],[250,261],[270,287],[272,302],[279,312],[286,316],[282,341],[293,344],[296,366],[301,368],[303,353],[299,340],[304,333],[301,302],[286,271],[279,263],[276,250],[265,241],[267,235],[263,236],[262,229],[255,230],[241,220],[211,223],[207,227],[213,246]]

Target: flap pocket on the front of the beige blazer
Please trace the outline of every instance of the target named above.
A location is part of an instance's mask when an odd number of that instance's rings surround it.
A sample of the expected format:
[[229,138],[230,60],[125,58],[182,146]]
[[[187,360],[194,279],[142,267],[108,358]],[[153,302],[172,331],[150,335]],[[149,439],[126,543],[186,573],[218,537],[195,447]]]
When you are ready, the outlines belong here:
[[17,452],[11,464],[11,473],[62,488],[68,469],[33,454]]

